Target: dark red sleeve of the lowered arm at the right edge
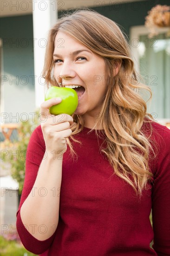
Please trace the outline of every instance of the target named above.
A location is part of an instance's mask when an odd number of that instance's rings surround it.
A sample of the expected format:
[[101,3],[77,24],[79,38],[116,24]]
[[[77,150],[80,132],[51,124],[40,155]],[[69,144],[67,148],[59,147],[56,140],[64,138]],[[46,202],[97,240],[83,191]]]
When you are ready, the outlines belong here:
[[160,127],[158,133],[159,151],[155,162],[152,189],[153,249],[158,256],[168,256],[170,255],[170,130]]

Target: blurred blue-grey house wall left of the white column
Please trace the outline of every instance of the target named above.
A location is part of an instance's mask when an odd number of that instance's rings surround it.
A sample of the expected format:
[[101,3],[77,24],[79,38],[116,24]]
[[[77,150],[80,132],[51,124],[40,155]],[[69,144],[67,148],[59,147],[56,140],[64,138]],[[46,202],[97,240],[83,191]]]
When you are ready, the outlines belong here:
[[4,17],[0,24],[1,97],[4,98],[1,112],[6,113],[1,115],[1,121],[16,123],[25,121],[29,113],[35,112],[33,16]]

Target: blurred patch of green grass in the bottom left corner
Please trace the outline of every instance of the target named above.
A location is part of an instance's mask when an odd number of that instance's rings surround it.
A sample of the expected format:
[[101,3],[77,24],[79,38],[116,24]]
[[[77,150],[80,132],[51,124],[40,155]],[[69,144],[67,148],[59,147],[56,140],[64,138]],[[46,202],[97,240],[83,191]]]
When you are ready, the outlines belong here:
[[27,251],[22,243],[8,241],[3,236],[0,236],[0,256],[35,256],[35,254]]

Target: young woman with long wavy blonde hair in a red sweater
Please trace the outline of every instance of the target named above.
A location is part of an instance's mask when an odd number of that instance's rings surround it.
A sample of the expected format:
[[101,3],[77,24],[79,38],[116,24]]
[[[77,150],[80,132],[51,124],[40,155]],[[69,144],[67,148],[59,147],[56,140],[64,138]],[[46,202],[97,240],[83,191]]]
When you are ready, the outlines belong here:
[[59,19],[44,76],[48,86],[79,86],[78,107],[72,116],[52,116],[49,108],[61,100],[41,104],[17,212],[26,249],[170,255],[170,131],[146,112],[140,92],[150,88],[137,81],[118,25],[90,10]]

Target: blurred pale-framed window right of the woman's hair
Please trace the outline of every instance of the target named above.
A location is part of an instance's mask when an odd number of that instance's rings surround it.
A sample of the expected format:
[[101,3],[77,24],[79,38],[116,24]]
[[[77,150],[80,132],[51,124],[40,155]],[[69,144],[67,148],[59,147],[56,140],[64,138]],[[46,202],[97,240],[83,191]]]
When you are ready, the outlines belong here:
[[147,103],[147,112],[157,121],[170,122],[170,34],[168,29],[148,38],[144,26],[131,28],[131,52],[137,71],[144,83],[152,90],[152,101]]

